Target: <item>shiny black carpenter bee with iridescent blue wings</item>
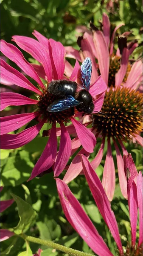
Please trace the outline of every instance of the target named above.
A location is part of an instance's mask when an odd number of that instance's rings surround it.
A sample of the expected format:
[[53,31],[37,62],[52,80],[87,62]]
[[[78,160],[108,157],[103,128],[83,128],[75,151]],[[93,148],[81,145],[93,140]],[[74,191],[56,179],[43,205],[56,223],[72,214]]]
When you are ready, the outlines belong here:
[[90,58],[86,58],[78,71],[77,82],[81,87],[77,90],[77,83],[67,80],[51,81],[48,85],[48,92],[57,98],[47,108],[48,112],[60,112],[68,108],[76,107],[79,112],[84,114],[93,113],[93,98],[89,93],[92,63]]

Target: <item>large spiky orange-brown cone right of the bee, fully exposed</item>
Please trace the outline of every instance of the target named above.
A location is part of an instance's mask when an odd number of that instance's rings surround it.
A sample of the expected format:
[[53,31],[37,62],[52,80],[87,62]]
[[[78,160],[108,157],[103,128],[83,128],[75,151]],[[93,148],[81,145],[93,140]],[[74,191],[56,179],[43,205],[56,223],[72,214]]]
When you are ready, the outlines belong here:
[[[112,104],[113,103],[113,104]],[[105,94],[101,112],[95,113],[94,127],[102,136],[126,141],[143,129],[143,96],[142,93],[128,88],[112,87]]]

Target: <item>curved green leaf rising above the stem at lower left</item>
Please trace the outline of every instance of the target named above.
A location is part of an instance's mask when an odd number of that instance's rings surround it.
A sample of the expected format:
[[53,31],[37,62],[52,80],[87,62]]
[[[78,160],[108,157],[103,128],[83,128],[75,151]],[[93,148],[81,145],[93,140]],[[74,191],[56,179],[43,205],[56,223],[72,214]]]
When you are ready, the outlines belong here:
[[22,232],[25,232],[28,230],[28,228],[33,224],[35,218],[36,218],[36,212],[31,207],[30,204],[26,203],[22,198],[20,198],[17,195],[12,194],[12,197],[17,203],[18,207],[18,214],[20,217],[20,221],[17,225],[17,227],[14,228],[14,232],[19,235]]

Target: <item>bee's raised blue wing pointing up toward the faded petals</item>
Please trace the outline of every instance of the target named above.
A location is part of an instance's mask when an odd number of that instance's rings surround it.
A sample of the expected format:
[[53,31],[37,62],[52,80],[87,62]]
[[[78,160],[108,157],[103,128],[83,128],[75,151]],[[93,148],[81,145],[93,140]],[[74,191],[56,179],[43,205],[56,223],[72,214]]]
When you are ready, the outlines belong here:
[[90,80],[92,72],[92,63],[90,58],[86,58],[78,71],[77,82],[81,84],[81,87],[89,92],[90,90]]

